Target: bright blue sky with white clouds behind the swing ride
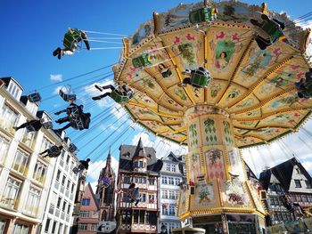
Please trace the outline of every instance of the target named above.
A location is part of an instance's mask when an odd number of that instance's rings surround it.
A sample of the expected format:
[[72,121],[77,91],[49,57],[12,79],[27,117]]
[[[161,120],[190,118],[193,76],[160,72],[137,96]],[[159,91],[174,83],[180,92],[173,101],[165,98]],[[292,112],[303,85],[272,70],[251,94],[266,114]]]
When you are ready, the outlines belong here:
[[[250,4],[262,3],[259,0],[242,2]],[[57,79],[67,79],[94,69],[103,68],[119,60],[119,49],[90,52],[81,51],[74,56],[64,57],[61,61],[53,57],[52,52],[56,47],[62,45],[62,36],[70,27],[126,36],[132,35],[142,22],[152,18],[152,12],[166,12],[179,3],[181,3],[181,0],[54,0],[36,2],[2,0],[0,2],[0,21],[2,28],[0,77],[15,77],[21,85],[24,86],[25,93],[29,93],[40,87],[55,84]],[[183,3],[188,4],[193,3],[193,1],[183,1]],[[297,3],[300,4],[295,4],[295,2],[291,0],[267,1],[267,5],[270,9],[275,12],[286,12],[291,16],[291,19],[311,12],[311,0],[300,0]],[[101,35],[101,37],[120,36]],[[121,43],[121,39],[114,40],[113,42]],[[96,47],[119,47],[121,45],[122,44],[96,44]],[[66,84],[77,87],[79,83],[80,85],[86,83],[86,79],[90,79],[92,83],[92,81],[95,80],[95,78],[91,79],[92,77],[100,76],[109,71],[110,69],[101,70]],[[54,79],[52,80],[51,75],[59,76],[52,77]],[[108,77],[107,79],[112,80],[112,77]],[[53,92],[58,86],[60,85],[53,85],[44,90],[39,89],[43,99],[45,100],[47,97],[52,97],[54,95]],[[75,91],[78,94],[86,93],[86,90],[82,87]],[[98,105],[94,106],[90,100],[86,100],[85,103],[93,117],[105,108],[110,108],[113,104],[111,101],[102,101],[102,107],[100,107]],[[41,109],[46,109],[51,113],[52,110],[60,109],[65,105],[65,102],[54,95],[53,98],[41,103]],[[111,108],[105,113],[109,114],[109,111],[117,112],[116,109]],[[119,126],[122,121],[117,121],[117,118],[123,115],[121,110],[119,111],[117,115],[110,117],[103,115],[102,117],[106,117],[105,119],[98,118],[97,122],[94,121],[93,125],[95,123],[97,124],[100,120],[101,123],[96,125],[94,131],[87,133],[86,138],[77,143],[78,147],[80,147],[78,153],[78,157],[80,158],[85,158],[94,148],[97,149],[97,151],[94,151],[93,155],[90,156],[92,160],[97,161],[92,166],[91,171],[98,171],[103,166],[103,161],[107,156],[110,144],[114,143],[112,146],[113,157],[118,158],[118,147],[120,143],[131,144],[138,140],[138,134],[144,132],[141,128],[135,126],[135,130],[128,128],[124,136],[120,137],[122,131],[126,129],[131,122],[126,122]],[[108,120],[108,118],[110,119]],[[111,126],[108,127],[109,125]],[[103,131],[104,133],[102,133]],[[101,144],[101,141],[113,132],[116,132],[115,135],[112,135],[107,141]],[[81,139],[81,132],[68,131],[68,133],[72,139]],[[99,133],[102,134],[94,141],[86,144],[87,141],[90,141]],[[163,142],[160,142],[160,139],[156,139],[155,137],[151,136],[148,138],[148,135],[145,134],[144,139],[146,145],[158,147],[162,152],[167,153],[170,148],[168,143],[163,144]],[[308,137],[305,139],[309,141]],[[98,147],[98,145],[100,145],[100,147]],[[82,146],[83,149],[81,149]],[[176,150],[178,152],[178,149],[179,148],[175,146],[174,151]],[[184,150],[180,149],[180,152],[183,153]],[[248,157],[248,153],[246,155]],[[281,157],[279,159],[281,159]],[[309,159],[306,158],[305,161],[309,162]],[[310,166],[310,169],[312,168],[311,164],[308,166]],[[90,181],[93,181],[97,174],[98,172],[93,173],[93,177],[90,178]]]

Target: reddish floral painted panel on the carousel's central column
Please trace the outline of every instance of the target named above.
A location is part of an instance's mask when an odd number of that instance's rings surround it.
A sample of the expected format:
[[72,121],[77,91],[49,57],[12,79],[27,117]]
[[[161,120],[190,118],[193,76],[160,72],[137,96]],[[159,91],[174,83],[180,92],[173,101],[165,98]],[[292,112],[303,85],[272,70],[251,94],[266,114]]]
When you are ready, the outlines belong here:
[[220,149],[209,149],[204,152],[209,181],[225,179],[225,165],[223,152]]

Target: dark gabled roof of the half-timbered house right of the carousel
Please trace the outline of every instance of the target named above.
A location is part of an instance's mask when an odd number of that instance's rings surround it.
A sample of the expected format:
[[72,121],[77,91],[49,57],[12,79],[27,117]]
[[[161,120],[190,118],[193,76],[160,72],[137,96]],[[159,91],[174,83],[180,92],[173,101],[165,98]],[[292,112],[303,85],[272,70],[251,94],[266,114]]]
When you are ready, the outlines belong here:
[[290,160],[283,162],[282,164],[275,165],[274,167],[267,169],[260,173],[259,181],[263,183],[265,190],[268,189],[272,174],[281,183],[284,190],[289,190],[291,186],[291,177],[294,166],[297,165],[300,168],[300,172],[312,183],[312,178],[307,170],[300,164],[300,162],[292,157]]

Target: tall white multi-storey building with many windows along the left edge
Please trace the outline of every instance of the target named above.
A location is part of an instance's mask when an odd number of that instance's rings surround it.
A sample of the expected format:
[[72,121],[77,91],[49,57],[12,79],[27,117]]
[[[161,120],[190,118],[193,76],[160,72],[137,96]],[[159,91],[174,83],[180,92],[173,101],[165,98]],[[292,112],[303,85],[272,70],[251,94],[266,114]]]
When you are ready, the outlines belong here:
[[[0,233],[69,233],[78,182],[70,172],[78,159],[70,140],[51,129],[15,132],[26,120],[51,120],[22,91],[12,77],[0,78]],[[64,146],[62,157],[38,155],[55,144]]]

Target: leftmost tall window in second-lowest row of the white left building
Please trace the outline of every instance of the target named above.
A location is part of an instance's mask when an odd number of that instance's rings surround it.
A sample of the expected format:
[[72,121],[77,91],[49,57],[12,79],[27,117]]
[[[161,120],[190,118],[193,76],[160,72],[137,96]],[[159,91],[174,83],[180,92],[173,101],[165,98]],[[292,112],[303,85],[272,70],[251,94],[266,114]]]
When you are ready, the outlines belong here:
[[8,177],[5,184],[4,194],[0,202],[4,206],[14,208],[17,197],[21,189],[21,181],[15,180],[12,177]]

